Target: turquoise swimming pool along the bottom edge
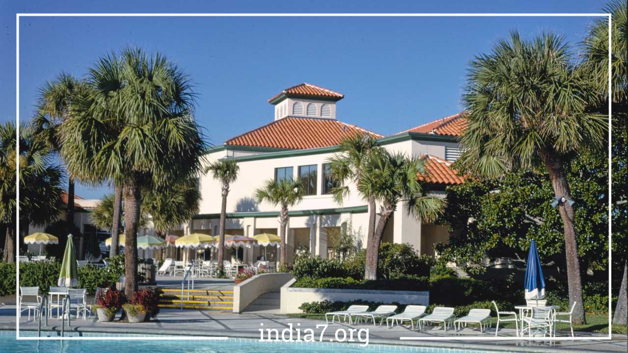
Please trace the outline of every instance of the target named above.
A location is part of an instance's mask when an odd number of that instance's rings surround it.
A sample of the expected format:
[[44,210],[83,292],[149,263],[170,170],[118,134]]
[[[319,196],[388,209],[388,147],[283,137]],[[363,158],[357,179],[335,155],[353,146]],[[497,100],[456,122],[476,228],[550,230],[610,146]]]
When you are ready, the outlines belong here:
[[[35,337],[36,332],[21,331],[22,337]],[[76,337],[76,333],[72,334]],[[83,337],[146,337],[144,335],[112,335],[83,333]],[[168,340],[154,336],[154,340],[16,340],[15,331],[0,331],[0,352],[28,353],[360,353],[360,352],[421,352],[421,353],[489,353],[485,350],[448,349],[431,347],[408,347],[401,345],[304,343],[304,342],[259,342],[256,339],[228,340]],[[502,352],[503,353],[503,352]]]

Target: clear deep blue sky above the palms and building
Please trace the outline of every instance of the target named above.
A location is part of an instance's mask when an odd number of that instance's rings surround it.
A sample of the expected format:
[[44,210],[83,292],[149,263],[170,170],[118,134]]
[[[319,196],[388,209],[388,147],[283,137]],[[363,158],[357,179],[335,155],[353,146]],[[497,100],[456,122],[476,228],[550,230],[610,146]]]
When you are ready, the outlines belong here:
[[[133,3],[133,4],[130,4]],[[20,1],[0,4],[0,121],[15,119],[15,13],[601,13],[603,1]],[[166,5],[168,4],[168,5]],[[174,5],[174,6],[173,6]],[[124,46],[160,52],[195,83],[196,118],[212,144],[273,121],[266,101],[301,82],[345,94],[339,120],[393,134],[461,110],[469,60],[518,30],[553,31],[577,45],[590,17],[138,18],[30,17],[19,21],[19,119],[60,72],[82,77]],[[100,198],[107,188],[77,186]]]

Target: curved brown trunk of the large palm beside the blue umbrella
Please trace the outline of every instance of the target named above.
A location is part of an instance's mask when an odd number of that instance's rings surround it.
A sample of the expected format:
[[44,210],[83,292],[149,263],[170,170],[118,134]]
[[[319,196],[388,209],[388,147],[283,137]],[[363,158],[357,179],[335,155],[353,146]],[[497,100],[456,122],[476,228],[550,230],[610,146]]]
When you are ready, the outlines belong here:
[[[548,169],[554,194],[565,198],[571,198],[571,190],[567,183],[563,161],[560,156],[548,149],[541,152],[541,158]],[[569,288],[569,305],[576,302],[573,310],[573,322],[582,324],[586,322],[585,310],[582,304],[582,280],[580,279],[580,261],[578,259],[578,245],[576,243],[576,229],[573,220],[573,207],[566,202],[558,206],[560,217],[563,220],[565,232],[565,254],[567,260],[567,285]]]

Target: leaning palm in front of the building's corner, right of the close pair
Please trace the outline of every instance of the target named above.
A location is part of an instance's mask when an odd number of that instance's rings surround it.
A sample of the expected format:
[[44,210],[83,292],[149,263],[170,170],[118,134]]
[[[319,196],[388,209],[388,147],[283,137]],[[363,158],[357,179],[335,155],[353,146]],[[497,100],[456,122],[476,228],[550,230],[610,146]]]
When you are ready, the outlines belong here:
[[364,173],[358,180],[358,190],[362,194],[370,193],[381,204],[374,237],[367,243],[365,279],[377,280],[379,244],[388,219],[399,202],[403,201],[408,212],[421,222],[433,222],[443,214],[445,200],[426,195],[419,175],[426,175],[425,160],[403,153],[383,151],[369,158],[369,163],[365,164]]

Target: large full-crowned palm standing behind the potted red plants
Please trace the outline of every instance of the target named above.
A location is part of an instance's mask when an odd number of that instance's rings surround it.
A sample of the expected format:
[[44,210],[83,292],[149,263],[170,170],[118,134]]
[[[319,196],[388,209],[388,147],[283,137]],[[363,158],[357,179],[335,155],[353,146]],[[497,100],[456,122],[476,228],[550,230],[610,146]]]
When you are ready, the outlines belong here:
[[137,233],[142,190],[168,187],[200,170],[205,141],[193,119],[187,75],[157,54],[127,48],[101,57],[89,91],[61,128],[61,155],[82,182],[124,187],[125,294],[138,288]]

